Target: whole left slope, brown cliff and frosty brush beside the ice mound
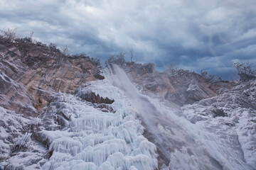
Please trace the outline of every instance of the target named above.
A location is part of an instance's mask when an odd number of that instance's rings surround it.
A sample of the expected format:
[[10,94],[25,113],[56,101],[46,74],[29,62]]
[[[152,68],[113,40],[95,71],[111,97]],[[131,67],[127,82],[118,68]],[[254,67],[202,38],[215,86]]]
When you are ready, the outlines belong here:
[[0,69],[0,163],[5,162],[4,169],[41,169],[52,154],[41,131],[50,121],[58,124],[56,129],[70,121],[64,111],[49,121],[41,120],[42,114],[58,94],[75,94],[81,84],[104,77],[89,57],[74,59],[42,45],[1,38]]

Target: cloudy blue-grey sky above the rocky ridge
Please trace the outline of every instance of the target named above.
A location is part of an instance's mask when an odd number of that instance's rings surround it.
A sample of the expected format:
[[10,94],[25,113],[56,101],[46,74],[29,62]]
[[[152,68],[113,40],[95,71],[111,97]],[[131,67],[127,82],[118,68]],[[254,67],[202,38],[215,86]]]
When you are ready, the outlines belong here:
[[233,62],[256,63],[255,0],[0,0],[0,29],[105,61],[134,50],[154,62],[229,79]]

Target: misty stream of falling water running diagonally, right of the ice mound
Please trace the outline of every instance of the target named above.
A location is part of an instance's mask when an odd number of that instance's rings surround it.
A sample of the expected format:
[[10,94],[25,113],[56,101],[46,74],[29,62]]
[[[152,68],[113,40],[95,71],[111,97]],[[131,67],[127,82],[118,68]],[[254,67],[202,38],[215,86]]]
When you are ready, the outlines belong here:
[[218,137],[140,94],[117,65],[106,77],[137,111],[146,129],[144,135],[157,147],[161,169],[250,169],[242,161],[240,150],[224,147]]

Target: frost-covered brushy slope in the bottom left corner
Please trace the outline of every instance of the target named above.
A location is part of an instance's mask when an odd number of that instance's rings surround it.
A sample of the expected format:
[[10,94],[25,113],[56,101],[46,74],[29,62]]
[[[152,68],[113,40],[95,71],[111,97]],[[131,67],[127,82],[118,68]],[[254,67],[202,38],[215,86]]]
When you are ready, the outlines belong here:
[[41,169],[46,149],[26,132],[33,118],[23,118],[0,107],[0,166],[8,169]]

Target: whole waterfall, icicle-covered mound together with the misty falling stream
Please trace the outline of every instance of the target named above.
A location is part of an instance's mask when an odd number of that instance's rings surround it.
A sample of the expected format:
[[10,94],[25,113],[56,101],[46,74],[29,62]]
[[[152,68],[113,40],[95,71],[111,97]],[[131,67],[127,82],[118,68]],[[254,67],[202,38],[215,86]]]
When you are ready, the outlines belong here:
[[[75,96],[56,94],[42,115],[48,128],[41,137],[52,154],[43,169],[251,169],[225,140],[142,95],[117,65],[104,74]],[[85,94],[110,98],[114,113],[82,100]]]

